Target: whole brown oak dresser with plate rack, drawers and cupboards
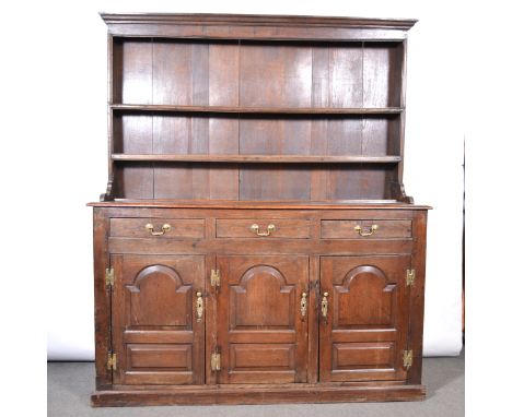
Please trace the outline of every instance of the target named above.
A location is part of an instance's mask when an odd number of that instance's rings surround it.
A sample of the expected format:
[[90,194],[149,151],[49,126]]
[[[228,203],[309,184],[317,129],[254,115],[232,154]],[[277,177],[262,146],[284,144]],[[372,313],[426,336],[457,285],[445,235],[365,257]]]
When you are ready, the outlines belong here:
[[102,17],[92,405],[422,400],[415,21]]

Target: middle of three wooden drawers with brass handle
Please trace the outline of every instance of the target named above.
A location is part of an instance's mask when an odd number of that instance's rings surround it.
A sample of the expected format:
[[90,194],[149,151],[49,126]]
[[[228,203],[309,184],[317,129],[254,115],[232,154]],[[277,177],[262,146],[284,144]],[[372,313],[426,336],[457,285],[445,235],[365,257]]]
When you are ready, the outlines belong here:
[[288,238],[309,239],[310,222],[281,218],[219,218],[218,238]]

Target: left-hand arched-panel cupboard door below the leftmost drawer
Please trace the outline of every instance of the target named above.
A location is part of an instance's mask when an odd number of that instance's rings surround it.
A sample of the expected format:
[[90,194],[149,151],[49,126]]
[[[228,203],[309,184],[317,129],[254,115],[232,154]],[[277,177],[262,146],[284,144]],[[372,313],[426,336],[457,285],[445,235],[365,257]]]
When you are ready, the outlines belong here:
[[198,311],[203,257],[113,255],[110,261],[114,383],[203,383],[206,311]]

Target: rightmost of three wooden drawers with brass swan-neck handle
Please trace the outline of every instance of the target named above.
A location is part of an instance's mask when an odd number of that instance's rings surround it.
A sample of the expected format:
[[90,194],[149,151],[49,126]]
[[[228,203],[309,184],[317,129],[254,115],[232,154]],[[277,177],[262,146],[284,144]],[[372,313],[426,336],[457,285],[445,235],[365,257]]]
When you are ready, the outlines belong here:
[[322,221],[322,239],[403,239],[412,236],[411,221]]

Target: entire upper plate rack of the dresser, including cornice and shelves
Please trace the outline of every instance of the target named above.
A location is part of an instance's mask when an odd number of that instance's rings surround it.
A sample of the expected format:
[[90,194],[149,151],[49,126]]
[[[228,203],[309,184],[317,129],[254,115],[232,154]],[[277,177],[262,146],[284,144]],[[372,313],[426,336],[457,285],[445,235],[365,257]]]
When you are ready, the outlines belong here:
[[102,17],[104,200],[411,202],[402,172],[415,21]]

